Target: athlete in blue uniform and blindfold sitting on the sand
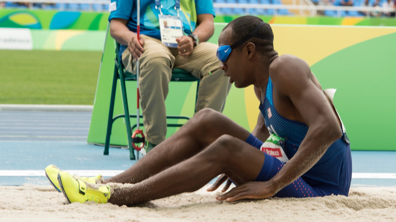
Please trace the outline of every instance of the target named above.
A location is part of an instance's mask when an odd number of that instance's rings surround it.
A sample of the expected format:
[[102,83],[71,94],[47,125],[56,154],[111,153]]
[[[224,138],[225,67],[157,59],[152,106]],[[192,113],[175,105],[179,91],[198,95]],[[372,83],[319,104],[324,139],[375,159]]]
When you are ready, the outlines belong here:
[[[224,75],[238,88],[254,85],[260,101],[252,133],[203,109],[135,165],[101,184],[60,171],[65,197],[69,202],[130,206],[196,191],[220,174],[208,191],[227,179],[223,191],[230,181],[236,187],[218,200],[347,196],[350,145],[336,109],[309,65],[291,55],[279,56],[273,38],[270,25],[254,16],[233,20],[219,36],[217,55]],[[259,139],[270,133],[284,139],[286,163],[260,151]],[[54,175],[57,169],[48,171]],[[133,185],[121,189],[109,182]]]

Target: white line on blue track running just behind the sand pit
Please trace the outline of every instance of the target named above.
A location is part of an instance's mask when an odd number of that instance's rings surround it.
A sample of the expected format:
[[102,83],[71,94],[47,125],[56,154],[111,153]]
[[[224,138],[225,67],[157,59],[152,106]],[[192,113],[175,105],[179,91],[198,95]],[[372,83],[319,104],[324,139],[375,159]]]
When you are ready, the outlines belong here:
[[[123,170],[65,170],[78,176],[115,176]],[[44,170],[0,170],[0,176],[45,176]],[[352,173],[352,179],[396,179],[396,173]]]

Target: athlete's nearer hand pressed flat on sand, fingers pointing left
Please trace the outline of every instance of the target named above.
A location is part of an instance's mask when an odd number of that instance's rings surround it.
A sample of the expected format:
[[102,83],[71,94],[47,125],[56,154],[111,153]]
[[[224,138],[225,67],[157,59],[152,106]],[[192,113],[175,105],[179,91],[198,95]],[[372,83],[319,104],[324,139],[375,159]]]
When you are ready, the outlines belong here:
[[268,182],[246,182],[229,192],[217,196],[217,200],[233,202],[241,199],[265,199],[276,194]]

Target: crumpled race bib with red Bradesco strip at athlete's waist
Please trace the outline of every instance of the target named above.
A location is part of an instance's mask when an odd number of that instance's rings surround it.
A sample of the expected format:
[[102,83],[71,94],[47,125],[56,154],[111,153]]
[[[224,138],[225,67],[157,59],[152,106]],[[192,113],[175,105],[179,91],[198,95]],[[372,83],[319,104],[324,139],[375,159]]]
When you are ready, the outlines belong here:
[[276,159],[286,163],[289,161],[285,151],[283,150],[285,146],[285,140],[276,134],[271,134],[270,137],[261,145],[260,150]]

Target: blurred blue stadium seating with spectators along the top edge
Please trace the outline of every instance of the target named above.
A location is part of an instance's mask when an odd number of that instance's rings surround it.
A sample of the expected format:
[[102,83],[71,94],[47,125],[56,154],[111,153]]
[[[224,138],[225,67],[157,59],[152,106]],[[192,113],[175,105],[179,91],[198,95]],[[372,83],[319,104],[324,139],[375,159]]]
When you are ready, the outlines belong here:
[[[1,0],[0,0],[1,1]],[[96,11],[109,10],[110,0],[8,0],[0,2],[0,8],[43,9],[59,11]],[[344,16],[392,16],[396,0],[214,0],[217,15],[294,15],[307,11],[329,17]],[[300,1],[300,3],[298,3]],[[301,4],[303,2],[303,4]],[[305,4],[304,4],[305,2]]]

